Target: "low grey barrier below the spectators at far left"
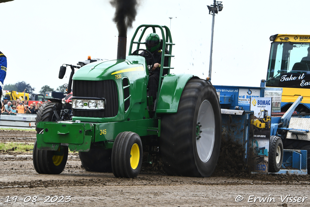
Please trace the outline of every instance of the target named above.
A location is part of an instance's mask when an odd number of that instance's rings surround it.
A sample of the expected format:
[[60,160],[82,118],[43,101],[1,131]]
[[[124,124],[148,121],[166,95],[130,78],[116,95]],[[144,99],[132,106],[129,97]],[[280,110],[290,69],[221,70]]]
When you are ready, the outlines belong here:
[[2,113],[0,116],[0,128],[35,128],[35,117],[37,114]]

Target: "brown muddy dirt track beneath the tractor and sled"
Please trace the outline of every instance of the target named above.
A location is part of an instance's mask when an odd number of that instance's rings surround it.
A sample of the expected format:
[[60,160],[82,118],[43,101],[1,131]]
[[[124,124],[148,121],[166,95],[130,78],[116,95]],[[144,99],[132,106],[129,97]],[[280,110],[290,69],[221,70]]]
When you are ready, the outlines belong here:
[[[0,130],[0,140],[31,143],[35,132]],[[2,152],[0,206],[310,206],[309,175],[249,174],[233,159],[242,151],[230,152],[232,148],[223,148],[220,155],[228,167],[218,165],[215,174],[205,178],[160,171],[115,178],[85,171],[77,153],[69,155],[61,175],[41,175],[33,168],[32,152]]]

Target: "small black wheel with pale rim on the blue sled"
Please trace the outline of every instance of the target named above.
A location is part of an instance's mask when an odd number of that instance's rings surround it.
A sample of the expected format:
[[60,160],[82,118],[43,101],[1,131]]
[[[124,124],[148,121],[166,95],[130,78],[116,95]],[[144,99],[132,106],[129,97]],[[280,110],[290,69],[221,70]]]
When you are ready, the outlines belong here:
[[280,137],[271,136],[269,142],[268,166],[270,173],[277,173],[281,169],[283,160],[283,143]]

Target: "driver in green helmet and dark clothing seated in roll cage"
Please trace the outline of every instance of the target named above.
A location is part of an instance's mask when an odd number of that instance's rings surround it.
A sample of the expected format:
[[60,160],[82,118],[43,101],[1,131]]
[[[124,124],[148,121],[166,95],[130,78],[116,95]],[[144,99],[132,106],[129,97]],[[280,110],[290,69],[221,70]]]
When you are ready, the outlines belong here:
[[[150,79],[148,83],[149,88],[149,96],[153,97],[153,102],[155,102],[157,89],[158,89],[158,82],[159,82],[159,73],[160,73],[160,63],[161,63],[161,55],[162,50],[160,48],[160,38],[156,33],[150,33],[147,35],[145,39],[145,47],[146,49],[152,53],[154,56],[154,65],[152,67],[152,71],[150,72]],[[152,58],[148,52],[141,52],[140,54],[146,59],[146,64],[152,64]],[[168,57],[164,60],[164,66],[168,66]],[[164,75],[164,74],[163,74]]]

